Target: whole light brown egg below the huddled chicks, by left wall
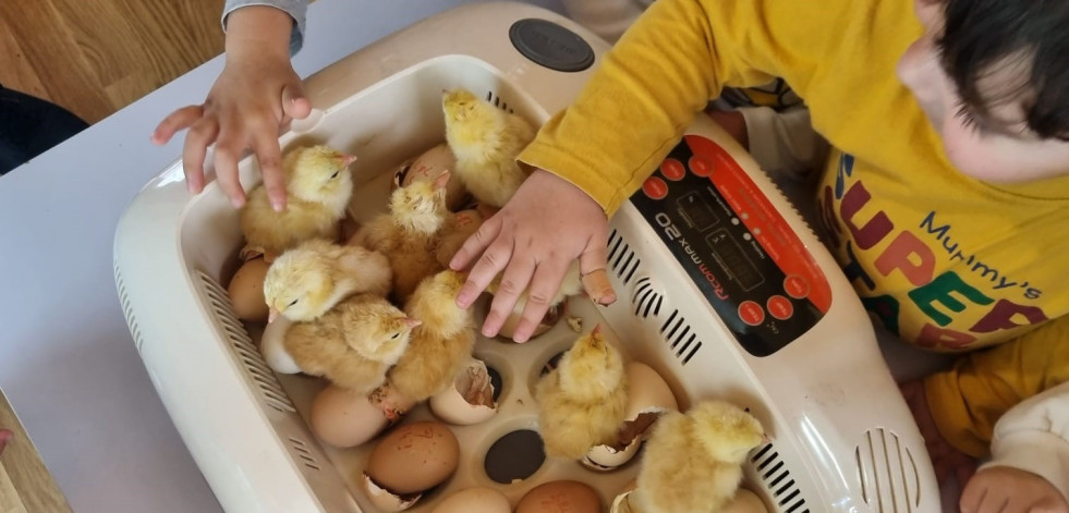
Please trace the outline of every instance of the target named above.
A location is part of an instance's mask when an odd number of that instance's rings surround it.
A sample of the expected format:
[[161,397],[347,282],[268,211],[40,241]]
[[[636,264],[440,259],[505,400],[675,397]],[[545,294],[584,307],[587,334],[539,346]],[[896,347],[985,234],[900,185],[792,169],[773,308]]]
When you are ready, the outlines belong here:
[[375,438],[390,423],[366,395],[330,384],[312,402],[308,424],[320,440],[348,448]]

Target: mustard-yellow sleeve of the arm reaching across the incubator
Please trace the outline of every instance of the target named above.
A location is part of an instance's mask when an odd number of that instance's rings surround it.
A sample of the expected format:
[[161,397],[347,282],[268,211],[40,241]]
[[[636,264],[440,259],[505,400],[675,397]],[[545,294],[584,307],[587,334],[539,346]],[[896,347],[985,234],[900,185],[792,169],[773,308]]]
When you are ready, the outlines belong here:
[[797,90],[807,82],[836,39],[824,35],[829,20],[846,19],[849,3],[658,0],[519,160],[575,184],[612,215],[722,87],[781,76]]

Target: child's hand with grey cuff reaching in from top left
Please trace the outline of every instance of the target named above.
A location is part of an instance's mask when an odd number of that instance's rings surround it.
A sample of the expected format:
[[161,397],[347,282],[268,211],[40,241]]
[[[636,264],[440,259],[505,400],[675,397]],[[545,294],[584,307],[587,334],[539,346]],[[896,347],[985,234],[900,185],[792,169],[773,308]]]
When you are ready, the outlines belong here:
[[190,129],[182,167],[190,191],[204,188],[204,160],[216,143],[215,170],[219,186],[234,207],[245,201],[238,181],[238,160],[252,148],[259,161],[264,185],[276,210],[286,208],[279,127],[308,115],[301,77],[289,56],[292,19],[275,8],[242,8],[229,16],[227,65],[203,105],[183,107],[168,115],[153,133],[166,144],[175,132]]

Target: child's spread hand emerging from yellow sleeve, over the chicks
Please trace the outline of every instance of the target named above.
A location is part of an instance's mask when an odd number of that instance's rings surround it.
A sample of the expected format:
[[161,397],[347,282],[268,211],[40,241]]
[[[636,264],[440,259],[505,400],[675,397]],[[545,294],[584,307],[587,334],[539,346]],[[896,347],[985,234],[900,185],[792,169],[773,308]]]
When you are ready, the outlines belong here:
[[[524,342],[546,315],[575,258],[584,277],[604,273],[608,230],[605,211],[585,192],[548,171],[535,170],[449,262],[450,268],[460,270],[478,257],[457,304],[469,307],[503,270],[483,334],[497,334],[530,285],[527,304],[513,334],[513,340]],[[604,281],[597,284],[600,290],[595,297],[609,304],[616,296]]]

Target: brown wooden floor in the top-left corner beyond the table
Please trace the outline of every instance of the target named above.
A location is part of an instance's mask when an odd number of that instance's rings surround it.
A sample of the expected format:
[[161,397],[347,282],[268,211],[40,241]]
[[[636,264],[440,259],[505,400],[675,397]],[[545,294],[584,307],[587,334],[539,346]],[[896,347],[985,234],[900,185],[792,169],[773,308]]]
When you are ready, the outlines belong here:
[[0,0],[0,84],[96,123],[222,53],[222,3]]

